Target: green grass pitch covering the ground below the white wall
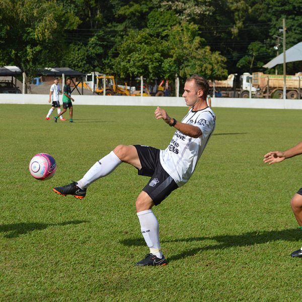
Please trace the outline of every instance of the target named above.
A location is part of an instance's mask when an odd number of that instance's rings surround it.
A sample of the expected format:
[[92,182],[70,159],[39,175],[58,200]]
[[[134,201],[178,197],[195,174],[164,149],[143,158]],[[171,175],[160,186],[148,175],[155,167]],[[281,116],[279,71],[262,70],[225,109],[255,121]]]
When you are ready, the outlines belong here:
[[[191,180],[154,212],[169,265],[134,267],[148,253],[135,199],[148,178],[120,165],[82,201],[52,192],[79,180],[117,144],[166,148],[173,129],[153,107],[74,106],[74,123],[49,106],[0,105],[1,301],[300,300],[302,245],[291,212],[302,157],[263,155],[301,140],[298,110],[214,108],[216,130]],[[186,108],[166,108],[178,120]],[[36,153],[56,175],[31,177]]]

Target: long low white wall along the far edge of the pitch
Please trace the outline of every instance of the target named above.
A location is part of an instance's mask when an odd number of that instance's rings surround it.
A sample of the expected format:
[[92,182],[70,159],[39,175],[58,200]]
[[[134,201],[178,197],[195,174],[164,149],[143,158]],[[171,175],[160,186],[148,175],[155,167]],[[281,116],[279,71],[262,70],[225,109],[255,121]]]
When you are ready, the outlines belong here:
[[[182,97],[74,96],[74,105],[186,106]],[[48,95],[0,94],[0,104],[48,104]],[[212,98],[213,107],[302,109],[302,100]]]

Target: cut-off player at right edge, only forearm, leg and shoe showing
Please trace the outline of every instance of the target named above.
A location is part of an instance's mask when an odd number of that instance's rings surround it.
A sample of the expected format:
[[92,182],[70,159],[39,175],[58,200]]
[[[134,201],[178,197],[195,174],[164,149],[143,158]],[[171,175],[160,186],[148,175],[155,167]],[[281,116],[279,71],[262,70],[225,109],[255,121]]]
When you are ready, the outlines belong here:
[[[302,154],[302,141],[286,151],[271,151],[264,156],[263,161],[269,165],[280,163],[286,159]],[[290,200],[291,209],[302,230],[302,188],[300,188]],[[302,248],[291,253],[291,257],[302,258]]]

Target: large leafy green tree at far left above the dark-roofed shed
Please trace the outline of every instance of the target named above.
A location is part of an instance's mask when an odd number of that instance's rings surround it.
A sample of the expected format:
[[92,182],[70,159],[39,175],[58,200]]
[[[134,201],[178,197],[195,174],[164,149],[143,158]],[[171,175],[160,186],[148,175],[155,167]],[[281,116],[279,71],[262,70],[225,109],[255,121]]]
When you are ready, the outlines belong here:
[[2,0],[0,16],[0,63],[18,65],[28,87],[38,68],[59,62],[64,30],[80,23],[55,0]]

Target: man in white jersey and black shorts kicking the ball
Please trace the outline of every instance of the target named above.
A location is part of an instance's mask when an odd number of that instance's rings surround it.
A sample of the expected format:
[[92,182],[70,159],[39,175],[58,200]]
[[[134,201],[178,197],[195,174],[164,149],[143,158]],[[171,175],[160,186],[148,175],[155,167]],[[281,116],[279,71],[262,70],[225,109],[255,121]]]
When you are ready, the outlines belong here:
[[176,128],[165,150],[145,145],[118,145],[96,162],[78,182],[53,188],[57,194],[82,199],[91,183],[108,175],[121,163],[134,166],[138,175],[150,177],[135,203],[141,233],[150,250],[144,259],[136,263],[137,266],[167,264],[161,251],[159,224],[152,207],[159,205],[173,190],[189,180],[209,141],[215,128],[215,114],[206,103],[208,90],[208,82],[199,75],[192,75],[186,81],[183,97],[191,109],[181,122],[157,107],[155,117]]

